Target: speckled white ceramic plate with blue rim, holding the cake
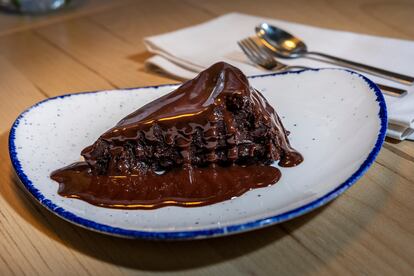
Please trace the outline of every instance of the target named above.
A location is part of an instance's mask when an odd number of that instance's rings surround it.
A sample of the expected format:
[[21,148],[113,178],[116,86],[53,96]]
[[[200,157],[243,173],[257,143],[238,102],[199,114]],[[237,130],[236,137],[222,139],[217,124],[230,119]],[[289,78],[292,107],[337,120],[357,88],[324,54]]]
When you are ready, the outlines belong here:
[[280,168],[270,187],[204,207],[117,210],[57,194],[50,173],[80,160],[101,133],[175,85],[70,94],[42,101],[15,121],[10,157],[21,182],[43,206],[80,226],[111,235],[194,239],[261,228],[307,213],[349,188],[383,143],[387,117],[380,90],[356,73],[307,70],[250,78],[291,131],[304,156]]

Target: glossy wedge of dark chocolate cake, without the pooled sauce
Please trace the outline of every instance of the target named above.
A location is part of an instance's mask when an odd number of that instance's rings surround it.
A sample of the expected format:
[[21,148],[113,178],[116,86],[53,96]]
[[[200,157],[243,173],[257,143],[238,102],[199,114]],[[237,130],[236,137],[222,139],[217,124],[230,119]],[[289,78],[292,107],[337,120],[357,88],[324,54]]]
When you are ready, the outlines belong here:
[[302,160],[274,109],[224,62],[128,115],[82,155],[94,175]]

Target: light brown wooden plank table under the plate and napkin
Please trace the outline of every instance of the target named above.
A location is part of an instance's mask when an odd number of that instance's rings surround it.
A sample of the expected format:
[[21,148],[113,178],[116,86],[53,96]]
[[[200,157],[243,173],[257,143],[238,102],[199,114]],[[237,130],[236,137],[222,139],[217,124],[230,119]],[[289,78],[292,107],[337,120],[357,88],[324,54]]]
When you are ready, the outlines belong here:
[[9,127],[68,92],[171,83],[144,69],[142,38],[241,11],[414,39],[414,2],[83,1],[46,16],[0,14],[0,274],[414,275],[414,142],[387,141],[358,183],[328,206],[246,234],[131,241],[49,213],[16,185]]

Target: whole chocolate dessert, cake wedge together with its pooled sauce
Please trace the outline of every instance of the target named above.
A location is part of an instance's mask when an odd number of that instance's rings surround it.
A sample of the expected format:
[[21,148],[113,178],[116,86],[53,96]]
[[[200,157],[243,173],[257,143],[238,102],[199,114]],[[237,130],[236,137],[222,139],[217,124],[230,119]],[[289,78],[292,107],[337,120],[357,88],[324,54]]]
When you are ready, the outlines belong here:
[[128,115],[82,155],[86,162],[52,173],[59,194],[143,209],[226,200],[275,183],[273,161],[303,160],[274,109],[223,62]]

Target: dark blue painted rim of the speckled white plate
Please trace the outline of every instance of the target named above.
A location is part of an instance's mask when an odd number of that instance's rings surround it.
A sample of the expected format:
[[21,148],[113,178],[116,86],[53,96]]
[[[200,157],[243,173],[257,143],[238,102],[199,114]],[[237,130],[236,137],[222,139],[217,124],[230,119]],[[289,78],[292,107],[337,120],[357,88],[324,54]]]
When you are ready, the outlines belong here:
[[[17,176],[19,177],[20,181],[26,188],[26,190],[46,209],[51,211],[52,213],[58,215],[59,217],[72,222],[76,225],[85,227],[90,230],[94,230],[101,233],[106,233],[114,236],[120,236],[120,237],[127,237],[127,238],[141,238],[141,239],[153,239],[153,240],[186,240],[186,239],[200,239],[200,238],[209,238],[209,237],[217,237],[222,235],[228,235],[228,234],[236,234],[241,232],[246,232],[249,230],[254,230],[258,228],[262,228],[265,226],[270,226],[273,224],[280,223],[282,221],[286,221],[295,217],[298,217],[300,215],[303,215],[305,213],[310,212],[311,210],[314,210],[322,205],[325,205],[329,201],[333,200],[334,198],[338,197],[340,194],[342,194],[345,190],[347,190],[349,187],[351,187],[371,166],[371,164],[374,162],[376,156],[378,155],[382,144],[385,139],[386,130],[387,130],[387,108],[385,104],[384,96],[381,93],[381,90],[378,88],[378,86],[372,82],[367,77],[351,71],[347,69],[338,69],[338,68],[319,68],[319,69],[304,69],[294,72],[283,72],[283,73],[271,73],[271,74],[261,74],[261,75],[254,75],[250,76],[249,78],[262,78],[262,77],[271,77],[271,76],[279,76],[284,74],[301,74],[306,71],[320,71],[320,70],[341,70],[346,71],[351,74],[355,74],[358,77],[362,78],[368,86],[371,88],[371,91],[373,91],[376,95],[376,101],[379,105],[379,113],[378,117],[381,122],[380,131],[377,136],[377,140],[375,142],[374,147],[372,148],[371,152],[368,154],[367,158],[364,160],[364,162],[361,164],[361,166],[343,183],[341,183],[338,187],[336,187],[334,190],[326,193],[325,195],[319,197],[318,199],[315,199],[314,201],[305,204],[303,206],[300,206],[298,208],[295,208],[293,210],[290,210],[288,212],[284,212],[282,214],[278,214],[275,216],[262,218],[258,220],[254,220],[251,222],[241,223],[241,224],[234,224],[234,225],[228,225],[223,227],[217,227],[212,229],[205,229],[205,230],[188,230],[188,231],[176,231],[176,232],[153,232],[153,231],[140,231],[140,230],[131,230],[131,229],[124,229],[114,226],[109,226],[101,223],[97,223],[92,220],[88,220],[82,217],[79,217],[75,215],[74,213],[71,213],[62,207],[57,206],[54,204],[51,200],[44,197],[44,195],[36,189],[35,185],[32,183],[32,181],[27,177],[25,174],[20,161],[17,157],[17,150],[15,145],[15,137],[16,137],[16,129],[19,126],[20,120],[24,117],[26,113],[28,113],[31,109],[47,102],[50,100],[55,99],[61,99],[65,97],[70,96],[76,96],[76,95],[82,95],[87,93],[100,93],[107,90],[98,90],[98,91],[87,91],[87,92],[81,92],[81,93],[69,93],[65,95],[60,95],[56,97],[51,97],[44,99],[31,107],[27,108],[25,111],[23,111],[14,121],[10,134],[9,134],[9,155],[11,159],[11,163],[13,165],[14,170],[16,171]],[[156,85],[156,86],[143,86],[143,87],[133,87],[133,88],[126,88],[122,90],[138,90],[138,89],[145,89],[145,88],[159,88],[159,87],[165,87],[165,86],[176,86],[177,84],[164,84],[164,85]],[[121,90],[121,89],[119,89]],[[117,90],[112,90],[117,91]]]

